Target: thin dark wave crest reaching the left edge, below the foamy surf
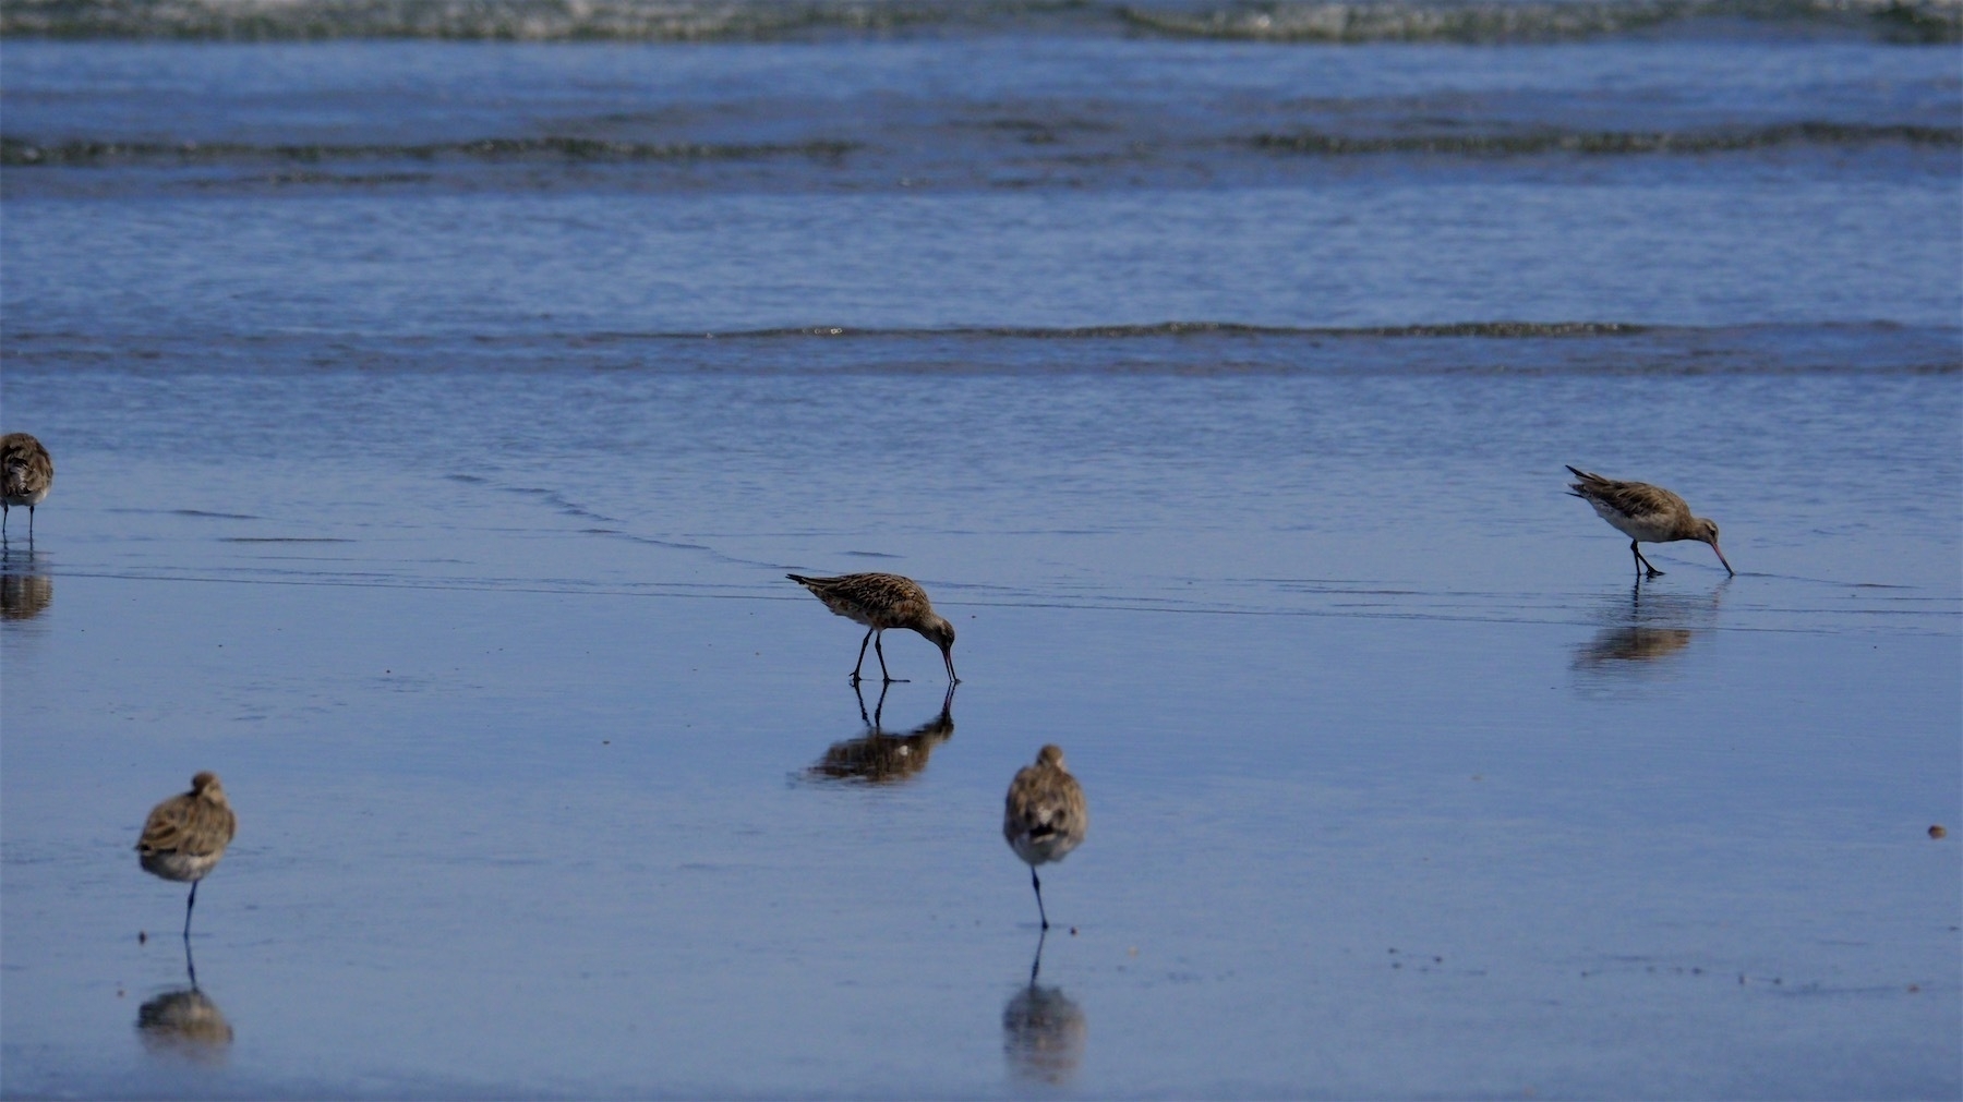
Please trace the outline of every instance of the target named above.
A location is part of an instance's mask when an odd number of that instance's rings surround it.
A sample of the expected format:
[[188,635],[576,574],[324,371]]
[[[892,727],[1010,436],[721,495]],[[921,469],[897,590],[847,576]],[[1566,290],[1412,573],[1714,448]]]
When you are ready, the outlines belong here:
[[695,141],[603,141],[593,137],[485,137],[475,141],[432,141],[420,145],[251,145],[239,141],[53,141],[0,137],[4,167],[92,167],[92,165],[216,165],[236,161],[277,161],[318,165],[322,161],[565,161],[565,163],[648,163],[648,161],[756,161],[769,157],[836,159],[858,149],[854,141],[797,143],[695,143]]

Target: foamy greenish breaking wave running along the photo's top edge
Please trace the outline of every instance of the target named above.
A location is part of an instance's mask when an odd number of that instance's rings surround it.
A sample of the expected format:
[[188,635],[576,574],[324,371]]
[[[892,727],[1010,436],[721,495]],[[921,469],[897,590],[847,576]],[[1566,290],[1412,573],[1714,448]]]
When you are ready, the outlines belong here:
[[1101,31],[1203,39],[1549,41],[1698,20],[1847,29],[1881,41],[1959,41],[1949,0],[8,0],[0,33],[292,41],[768,41],[815,35]]

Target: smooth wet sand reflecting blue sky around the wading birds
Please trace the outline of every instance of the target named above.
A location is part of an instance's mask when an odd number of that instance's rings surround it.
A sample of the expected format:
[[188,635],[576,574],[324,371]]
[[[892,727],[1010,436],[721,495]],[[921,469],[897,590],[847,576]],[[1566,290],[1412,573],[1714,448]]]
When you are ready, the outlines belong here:
[[[701,555],[654,547],[673,584],[636,590],[581,551],[612,537],[446,537],[416,492],[261,508],[310,463],[234,469],[239,516],[345,543],[236,541],[71,467],[6,561],[8,1096],[1959,1088],[1939,592],[1849,624],[1741,541],[1739,578],[1676,545],[1635,594],[1576,502],[1531,608],[1121,608],[858,559],[956,622],[942,724],[928,643],[891,633],[915,680],[862,700],[860,631],[762,569],[691,596]],[[822,769],[862,704],[917,767]],[[1033,986],[997,826],[1044,741],[1093,827]],[[202,1002],[183,890],[130,851],[196,769],[241,820]]]

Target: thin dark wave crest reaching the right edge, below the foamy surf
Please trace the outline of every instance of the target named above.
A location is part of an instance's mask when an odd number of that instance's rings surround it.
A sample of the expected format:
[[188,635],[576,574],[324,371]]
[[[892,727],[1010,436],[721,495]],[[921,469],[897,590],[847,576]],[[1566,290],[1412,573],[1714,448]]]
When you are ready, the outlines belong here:
[[1370,153],[1447,153],[1462,157],[1517,157],[1533,153],[1735,153],[1778,145],[1906,145],[1963,147],[1963,127],[1955,125],[1859,125],[1796,122],[1757,129],[1708,131],[1559,131],[1529,133],[1413,133],[1396,137],[1351,137],[1341,133],[1262,133],[1248,139],[1256,149],[1309,153],[1323,157]]

